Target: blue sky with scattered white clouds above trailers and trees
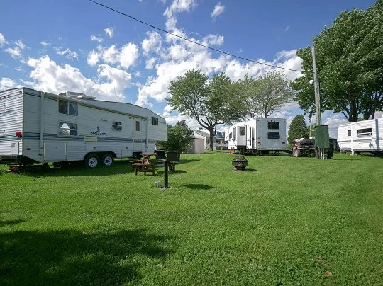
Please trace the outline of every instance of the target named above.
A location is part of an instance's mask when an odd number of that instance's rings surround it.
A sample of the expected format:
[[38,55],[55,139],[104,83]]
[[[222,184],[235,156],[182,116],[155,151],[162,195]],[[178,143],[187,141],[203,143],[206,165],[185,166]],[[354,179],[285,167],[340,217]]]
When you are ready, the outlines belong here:
[[[79,91],[98,99],[143,105],[175,124],[166,105],[167,86],[189,68],[225,71],[232,80],[273,68],[249,63],[166,35],[89,0],[1,1],[0,90],[28,86],[60,93]],[[279,67],[300,69],[296,49],[340,11],[365,9],[363,1],[99,0],[118,11],[218,50]],[[299,72],[285,71],[290,79]],[[282,114],[291,122],[296,103]],[[326,112],[336,126],[342,115]],[[187,119],[187,118],[186,118]],[[194,120],[187,120],[198,127]]]

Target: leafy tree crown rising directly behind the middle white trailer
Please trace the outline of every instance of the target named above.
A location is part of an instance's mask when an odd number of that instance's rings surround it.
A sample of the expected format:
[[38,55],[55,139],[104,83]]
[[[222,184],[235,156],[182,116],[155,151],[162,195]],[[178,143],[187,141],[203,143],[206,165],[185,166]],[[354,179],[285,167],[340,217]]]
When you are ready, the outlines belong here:
[[277,71],[271,71],[258,78],[245,75],[240,81],[245,106],[245,115],[250,118],[270,117],[275,111],[292,101],[294,93],[289,79]]

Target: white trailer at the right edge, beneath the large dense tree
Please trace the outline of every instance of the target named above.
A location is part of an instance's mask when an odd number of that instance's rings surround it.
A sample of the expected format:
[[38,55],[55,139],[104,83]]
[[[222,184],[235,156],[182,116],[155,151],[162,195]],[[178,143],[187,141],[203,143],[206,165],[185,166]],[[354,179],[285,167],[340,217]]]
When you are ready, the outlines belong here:
[[383,152],[383,118],[340,125],[338,144],[340,151]]

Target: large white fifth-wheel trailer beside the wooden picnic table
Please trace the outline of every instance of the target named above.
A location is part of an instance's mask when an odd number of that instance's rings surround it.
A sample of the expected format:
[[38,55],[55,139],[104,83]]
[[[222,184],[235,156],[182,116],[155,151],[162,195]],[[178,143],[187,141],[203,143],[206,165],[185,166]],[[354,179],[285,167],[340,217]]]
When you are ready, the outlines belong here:
[[166,122],[147,108],[74,92],[0,92],[0,164],[110,166],[153,152],[157,140],[167,140]]

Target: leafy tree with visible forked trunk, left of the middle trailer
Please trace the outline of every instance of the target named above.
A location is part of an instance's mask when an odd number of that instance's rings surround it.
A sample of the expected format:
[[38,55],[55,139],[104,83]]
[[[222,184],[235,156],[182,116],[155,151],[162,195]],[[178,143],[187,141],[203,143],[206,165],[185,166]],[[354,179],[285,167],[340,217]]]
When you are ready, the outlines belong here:
[[215,74],[209,81],[201,71],[189,70],[169,86],[168,103],[172,110],[195,118],[201,127],[209,130],[210,149],[218,124],[230,123],[240,115],[238,88],[224,73]]

